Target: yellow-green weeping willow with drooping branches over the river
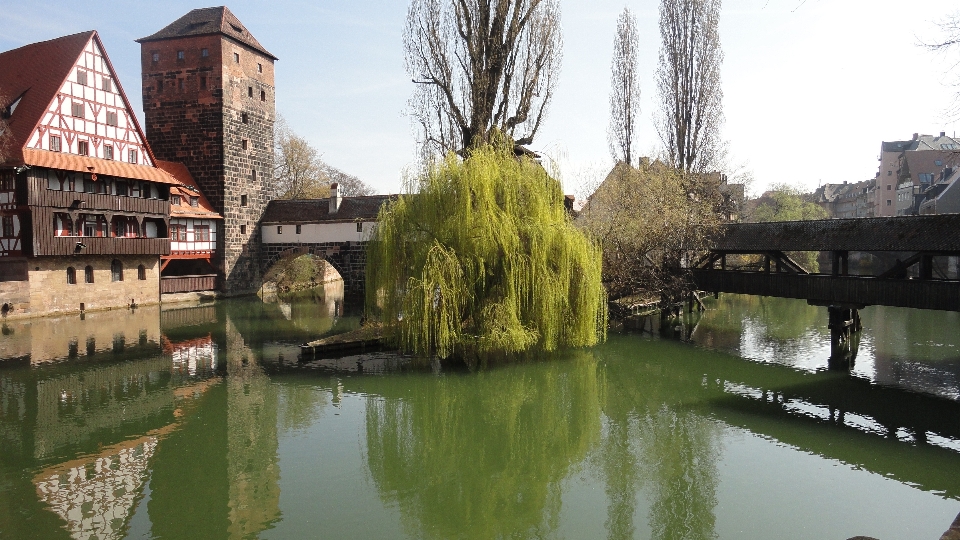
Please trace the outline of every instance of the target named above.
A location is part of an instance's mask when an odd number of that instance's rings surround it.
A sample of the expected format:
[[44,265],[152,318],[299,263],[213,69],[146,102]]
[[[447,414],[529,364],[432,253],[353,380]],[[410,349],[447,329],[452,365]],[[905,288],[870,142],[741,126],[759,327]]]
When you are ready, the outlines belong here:
[[538,163],[488,145],[413,182],[367,248],[368,312],[401,349],[469,359],[604,338],[600,249]]

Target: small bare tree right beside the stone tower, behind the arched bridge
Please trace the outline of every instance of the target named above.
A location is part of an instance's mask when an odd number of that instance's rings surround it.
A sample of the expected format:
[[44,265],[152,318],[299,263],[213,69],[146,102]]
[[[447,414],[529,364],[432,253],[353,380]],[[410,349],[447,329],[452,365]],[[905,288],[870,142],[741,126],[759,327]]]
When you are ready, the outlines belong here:
[[330,193],[317,149],[290,129],[283,117],[275,124],[275,193],[280,199],[318,199]]

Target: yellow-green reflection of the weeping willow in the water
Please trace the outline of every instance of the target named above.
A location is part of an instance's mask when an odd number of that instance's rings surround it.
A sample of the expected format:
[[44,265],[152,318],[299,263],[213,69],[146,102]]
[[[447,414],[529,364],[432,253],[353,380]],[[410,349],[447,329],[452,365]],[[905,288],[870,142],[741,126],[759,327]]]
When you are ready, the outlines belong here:
[[540,537],[599,432],[589,358],[411,380],[367,400],[367,463],[415,537]]

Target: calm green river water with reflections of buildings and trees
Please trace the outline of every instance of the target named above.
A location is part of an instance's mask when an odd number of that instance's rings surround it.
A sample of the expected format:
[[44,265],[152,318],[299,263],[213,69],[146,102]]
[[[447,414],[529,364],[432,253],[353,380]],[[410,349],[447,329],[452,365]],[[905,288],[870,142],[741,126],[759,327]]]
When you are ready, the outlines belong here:
[[298,361],[331,297],[11,321],[0,538],[939,538],[958,316],[868,308],[836,371],[825,308],[709,307],[475,372]]

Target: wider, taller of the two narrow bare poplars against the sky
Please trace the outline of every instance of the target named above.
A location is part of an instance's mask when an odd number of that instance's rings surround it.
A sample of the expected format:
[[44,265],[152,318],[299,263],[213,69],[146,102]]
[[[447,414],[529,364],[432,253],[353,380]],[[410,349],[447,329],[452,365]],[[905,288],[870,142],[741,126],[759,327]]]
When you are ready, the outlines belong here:
[[661,0],[657,130],[670,162],[706,172],[723,159],[721,0]]

